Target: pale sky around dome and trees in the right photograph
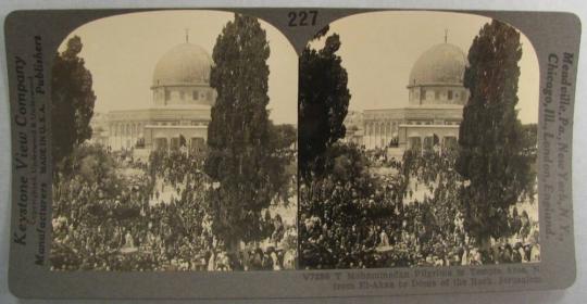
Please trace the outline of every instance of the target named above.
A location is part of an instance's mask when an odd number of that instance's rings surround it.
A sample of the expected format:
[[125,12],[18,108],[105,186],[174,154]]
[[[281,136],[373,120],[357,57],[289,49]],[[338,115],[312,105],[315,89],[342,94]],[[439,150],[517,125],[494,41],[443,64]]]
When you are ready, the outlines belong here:
[[[376,12],[348,16],[330,24],[340,35],[339,55],[349,75],[349,110],[403,107],[408,105],[408,78],[417,58],[445,41],[466,54],[489,18],[445,12]],[[324,39],[312,47],[320,48]],[[539,68],[536,52],[522,34],[519,118],[538,122]]]

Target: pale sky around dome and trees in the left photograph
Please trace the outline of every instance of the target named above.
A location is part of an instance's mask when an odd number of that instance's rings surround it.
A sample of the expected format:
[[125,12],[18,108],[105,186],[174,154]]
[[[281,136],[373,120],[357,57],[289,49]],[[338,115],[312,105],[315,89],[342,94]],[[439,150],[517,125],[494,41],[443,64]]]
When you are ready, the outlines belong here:
[[[105,17],[87,23],[77,35],[82,56],[93,79],[96,112],[146,109],[152,104],[150,86],[158,60],[173,47],[189,42],[212,54],[216,37],[233,13],[220,11],[157,11]],[[289,41],[272,25],[260,21],[271,49],[267,60],[270,118],[297,124],[298,56]]]

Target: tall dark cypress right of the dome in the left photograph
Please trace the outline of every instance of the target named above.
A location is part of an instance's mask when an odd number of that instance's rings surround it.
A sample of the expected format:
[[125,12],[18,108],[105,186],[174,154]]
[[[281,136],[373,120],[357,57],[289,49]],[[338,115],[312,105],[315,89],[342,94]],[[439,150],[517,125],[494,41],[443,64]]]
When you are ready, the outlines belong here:
[[262,211],[284,187],[287,161],[278,153],[266,105],[265,30],[254,17],[235,14],[216,39],[210,85],[217,92],[208,128],[207,174],[216,180],[210,193],[214,232],[229,250],[258,241]]

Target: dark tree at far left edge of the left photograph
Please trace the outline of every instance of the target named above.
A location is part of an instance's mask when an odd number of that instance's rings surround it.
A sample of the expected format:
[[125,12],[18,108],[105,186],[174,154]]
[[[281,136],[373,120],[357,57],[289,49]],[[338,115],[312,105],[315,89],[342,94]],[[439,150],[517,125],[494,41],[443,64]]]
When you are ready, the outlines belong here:
[[93,115],[96,94],[90,72],[85,67],[78,36],[67,41],[65,51],[58,53],[51,71],[51,132],[52,162],[59,172],[60,162],[74,148],[91,137],[89,125]]

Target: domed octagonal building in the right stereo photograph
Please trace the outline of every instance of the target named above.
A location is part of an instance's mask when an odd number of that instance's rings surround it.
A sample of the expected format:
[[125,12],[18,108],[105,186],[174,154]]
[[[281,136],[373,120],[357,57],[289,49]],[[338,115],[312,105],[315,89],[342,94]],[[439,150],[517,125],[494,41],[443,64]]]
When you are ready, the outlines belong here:
[[[457,144],[469,90],[463,86],[465,53],[444,42],[422,53],[412,66],[407,107],[365,110],[362,144],[367,149],[430,149]],[[354,137],[355,139],[359,137]]]

